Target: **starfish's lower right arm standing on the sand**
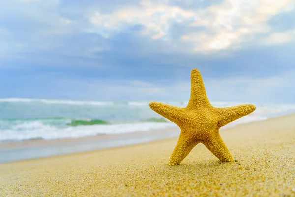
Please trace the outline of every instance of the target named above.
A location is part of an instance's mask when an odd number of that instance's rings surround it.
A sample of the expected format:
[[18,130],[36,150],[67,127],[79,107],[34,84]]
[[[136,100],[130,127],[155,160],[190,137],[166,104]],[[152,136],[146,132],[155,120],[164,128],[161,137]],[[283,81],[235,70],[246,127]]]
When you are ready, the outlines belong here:
[[224,141],[222,140],[219,133],[211,138],[210,140],[205,140],[202,142],[207,149],[213,153],[220,161],[222,162],[233,162],[234,158],[232,157],[229,149],[226,147]]

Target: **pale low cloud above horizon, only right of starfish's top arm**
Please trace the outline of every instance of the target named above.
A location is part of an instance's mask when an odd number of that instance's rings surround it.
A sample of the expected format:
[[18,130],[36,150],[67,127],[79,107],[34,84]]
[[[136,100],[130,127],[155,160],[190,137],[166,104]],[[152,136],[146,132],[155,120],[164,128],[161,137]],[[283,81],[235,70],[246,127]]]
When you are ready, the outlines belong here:
[[[232,77],[207,82],[209,95],[221,101],[293,102],[295,70],[261,78]],[[289,95],[289,96],[287,96]],[[232,96],[232,98],[231,98]]]

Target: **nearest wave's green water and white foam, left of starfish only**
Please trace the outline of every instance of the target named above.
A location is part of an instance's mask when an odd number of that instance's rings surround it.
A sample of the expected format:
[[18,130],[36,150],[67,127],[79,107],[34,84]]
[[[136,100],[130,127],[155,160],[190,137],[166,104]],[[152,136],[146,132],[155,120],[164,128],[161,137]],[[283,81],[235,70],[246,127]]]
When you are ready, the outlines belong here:
[[164,118],[112,123],[101,119],[45,117],[0,119],[0,141],[76,138],[101,134],[148,131],[175,126]]

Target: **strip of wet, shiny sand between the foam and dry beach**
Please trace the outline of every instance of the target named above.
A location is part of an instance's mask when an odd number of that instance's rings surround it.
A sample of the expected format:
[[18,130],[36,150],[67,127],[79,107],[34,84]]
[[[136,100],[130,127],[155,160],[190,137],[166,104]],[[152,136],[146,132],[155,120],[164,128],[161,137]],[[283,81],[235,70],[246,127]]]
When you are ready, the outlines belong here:
[[[238,129],[238,127],[244,127],[247,125],[251,126],[252,124],[294,115],[295,114],[287,114],[271,117],[266,120],[241,123],[232,127],[221,128],[220,133],[222,134],[223,132],[235,130]],[[180,129],[178,127],[170,127],[150,131],[95,135],[79,138],[4,141],[0,142],[0,164],[149,143],[170,138],[178,138],[179,134]]]

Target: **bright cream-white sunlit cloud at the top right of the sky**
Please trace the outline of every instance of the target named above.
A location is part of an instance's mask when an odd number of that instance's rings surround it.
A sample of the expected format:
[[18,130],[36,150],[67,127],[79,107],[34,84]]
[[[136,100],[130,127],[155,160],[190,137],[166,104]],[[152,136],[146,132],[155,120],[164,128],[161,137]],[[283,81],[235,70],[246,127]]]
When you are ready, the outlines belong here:
[[[90,21],[96,32],[106,38],[140,25],[139,36],[161,39],[169,42],[170,46],[177,44],[186,46],[186,50],[207,53],[238,49],[242,45],[249,45],[249,42],[255,44],[256,35],[271,32],[268,20],[280,12],[291,11],[294,4],[291,0],[224,0],[217,5],[192,10],[170,5],[170,2],[144,0],[140,6],[126,6],[112,13],[96,11]],[[173,24],[203,29],[183,33],[175,40],[171,39]]]

